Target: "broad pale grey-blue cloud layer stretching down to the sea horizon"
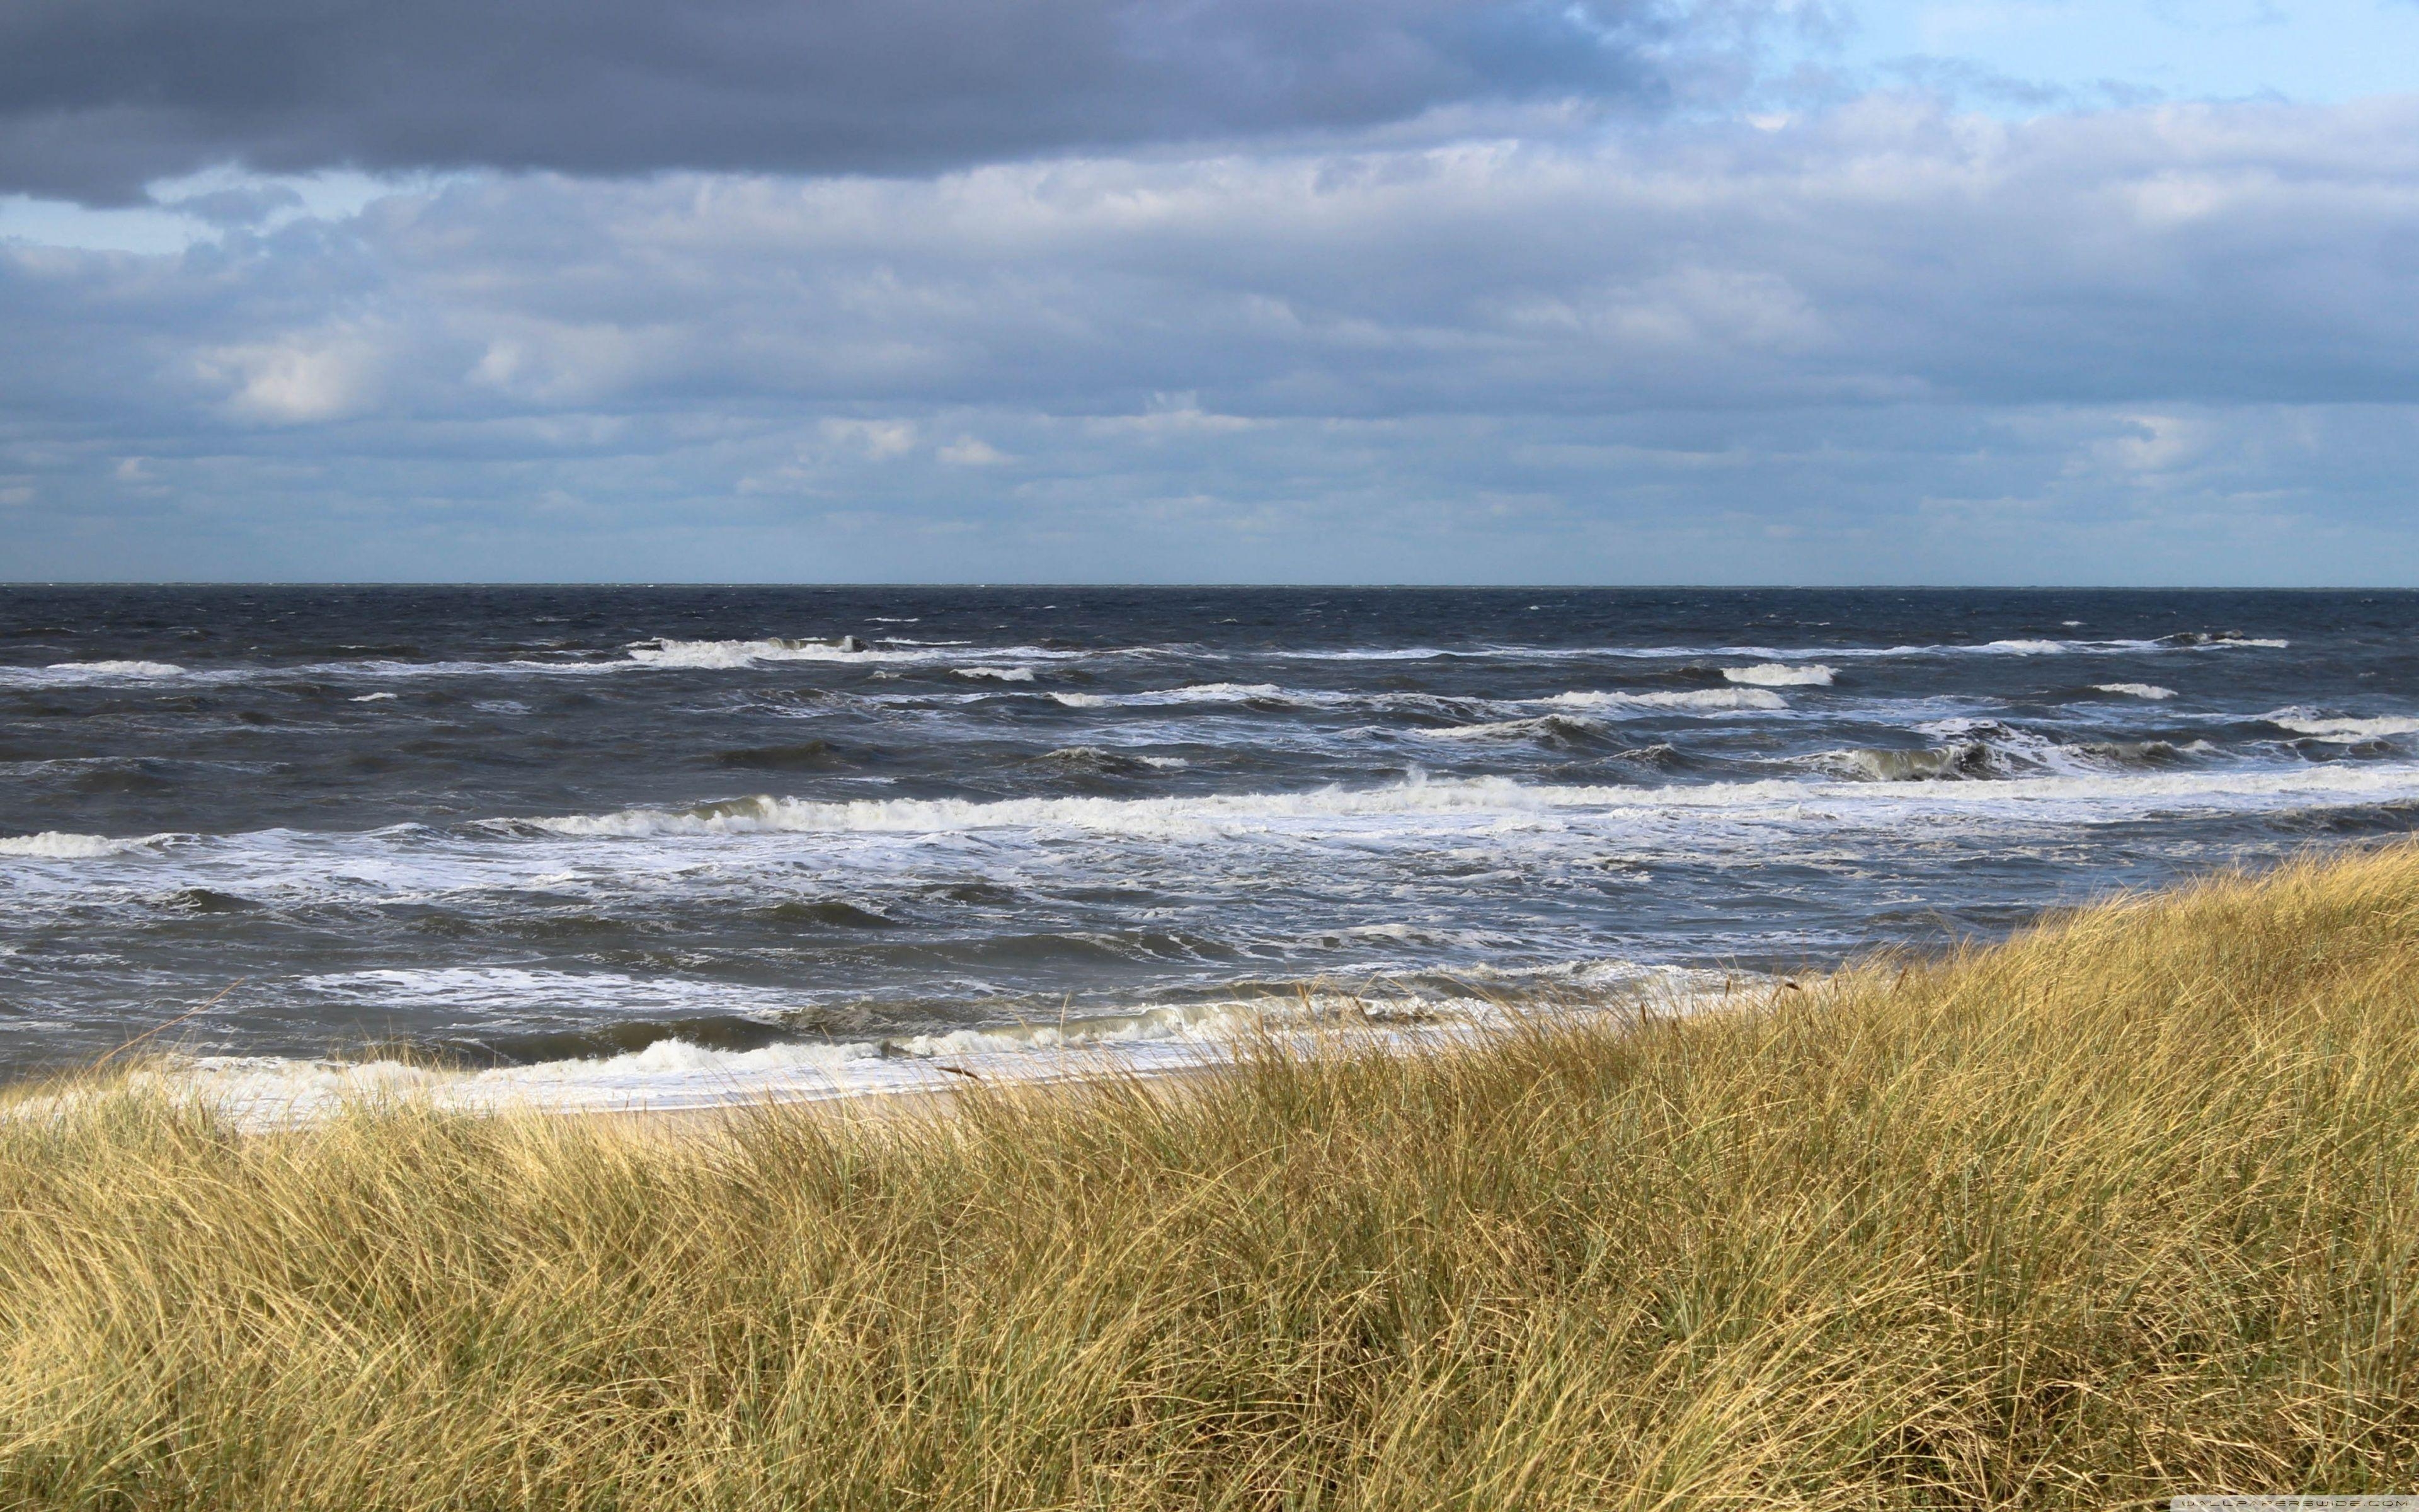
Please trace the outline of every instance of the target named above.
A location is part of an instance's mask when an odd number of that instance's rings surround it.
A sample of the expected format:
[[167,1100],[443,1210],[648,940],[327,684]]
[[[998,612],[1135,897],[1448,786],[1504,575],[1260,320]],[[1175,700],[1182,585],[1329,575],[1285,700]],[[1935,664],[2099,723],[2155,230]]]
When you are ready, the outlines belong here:
[[474,177],[0,244],[0,479],[51,576],[2419,576],[2414,143],[1875,97]]

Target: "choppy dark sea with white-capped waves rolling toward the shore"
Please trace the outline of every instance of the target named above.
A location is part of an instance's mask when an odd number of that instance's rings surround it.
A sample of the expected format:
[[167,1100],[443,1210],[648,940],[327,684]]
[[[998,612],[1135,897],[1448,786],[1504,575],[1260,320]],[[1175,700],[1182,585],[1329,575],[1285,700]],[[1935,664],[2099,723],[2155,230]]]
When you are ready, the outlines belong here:
[[1139,1067],[2414,825],[2409,593],[12,585],[0,1079]]

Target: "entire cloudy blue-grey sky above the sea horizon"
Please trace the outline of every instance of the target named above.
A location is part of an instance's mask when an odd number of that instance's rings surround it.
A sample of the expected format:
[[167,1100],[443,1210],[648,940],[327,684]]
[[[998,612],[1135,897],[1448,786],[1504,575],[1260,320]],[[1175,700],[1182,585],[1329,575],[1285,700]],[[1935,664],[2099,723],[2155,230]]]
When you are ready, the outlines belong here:
[[12,0],[121,578],[2419,585],[2419,0]]

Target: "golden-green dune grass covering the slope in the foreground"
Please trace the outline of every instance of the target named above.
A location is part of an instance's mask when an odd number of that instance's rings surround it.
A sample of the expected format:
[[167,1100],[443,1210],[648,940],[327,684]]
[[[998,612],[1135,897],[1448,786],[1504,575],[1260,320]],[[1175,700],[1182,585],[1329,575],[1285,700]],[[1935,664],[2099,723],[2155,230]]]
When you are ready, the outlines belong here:
[[2180,1490],[2419,1490],[2419,847],[1185,1096],[0,1123],[10,1507]]

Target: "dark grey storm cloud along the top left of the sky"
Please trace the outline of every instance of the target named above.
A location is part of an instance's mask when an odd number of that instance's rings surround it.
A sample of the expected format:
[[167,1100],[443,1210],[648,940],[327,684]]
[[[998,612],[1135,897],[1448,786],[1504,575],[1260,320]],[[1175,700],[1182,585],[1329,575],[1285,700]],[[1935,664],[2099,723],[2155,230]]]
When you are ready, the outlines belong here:
[[266,172],[929,172],[1643,97],[1655,0],[10,0],[0,191]]

